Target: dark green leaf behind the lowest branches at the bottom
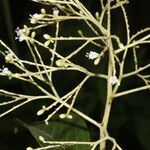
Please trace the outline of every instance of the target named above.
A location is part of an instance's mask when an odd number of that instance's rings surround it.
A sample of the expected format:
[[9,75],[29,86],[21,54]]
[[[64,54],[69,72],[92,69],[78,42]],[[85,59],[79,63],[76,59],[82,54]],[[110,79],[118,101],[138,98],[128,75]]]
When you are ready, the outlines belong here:
[[[41,146],[47,146],[39,140],[42,136],[47,141],[85,141],[89,142],[89,132],[85,122],[77,115],[72,119],[60,119],[58,115],[54,116],[49,125],[44,122],[36,122],[32,125],[23,125],[31,132]],[[59,150],[89,150],[89,145],[71,145],[62,146]]]

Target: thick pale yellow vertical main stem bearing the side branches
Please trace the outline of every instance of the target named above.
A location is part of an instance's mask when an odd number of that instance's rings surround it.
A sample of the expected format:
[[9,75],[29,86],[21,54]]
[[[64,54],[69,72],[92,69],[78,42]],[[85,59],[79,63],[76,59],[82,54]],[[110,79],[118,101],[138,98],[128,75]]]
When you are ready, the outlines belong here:
[[[113,76],[115,74],[115,63],[114,63],[114,54],[113,54],[113,45],[111,41],[111,13],[110,13],[110,3],[111,1],[108,0],[108,8],[107,8],[107,44],[108,44],[108,49],[109,49],[109,60],[108,60],[108,78]],[[105,110],[104,110],[104,115],[103,119],[101,122],[101,127],[100,127],[100,139],[104,139],[108,133],[107,133],[107,126],[108,126],[108,121],[109,121],[109,116],[110,116],[110,111],[111,111],[111,106],[112,106],[112,84],[107,80],[107,97],[106,97],[106,104],[105,104]],[[100,150],[105,150],[106,149],[106,141],[104,140],[103,142],[100,143]]]

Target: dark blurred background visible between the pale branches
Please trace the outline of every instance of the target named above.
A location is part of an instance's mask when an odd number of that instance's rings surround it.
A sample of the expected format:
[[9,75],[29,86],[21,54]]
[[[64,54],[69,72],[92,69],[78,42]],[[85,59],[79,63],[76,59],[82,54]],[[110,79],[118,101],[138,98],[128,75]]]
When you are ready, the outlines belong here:
[[[85,6],[94,14],[98,11],[99,0],[83,0]],[[30,0],[0,0],[0,39],[3,40],[19,57],[28,57],[26,53],[28,48],[25,42],[19,43],[15,40],[15,29],[22,28],[24,24],[29,24],[29,14],[40,12],[43,8],[41,4],[31,2]],[[150,1],[149,0],[130,0],[130,4],[126,6],[127,14],[129,17],[129,24],[131,34],[136,33],[140,29],[150,26]],[[112,14],[114,33],[119,35],[124,41],[125,33],[123,28],[123,21],[121,20],[120,11]],[[73,32],[74,29],[81,28],[82,24],[64,24],[64,32]],[[51,28],[52,30],[53,28]],[[87,33],[86,33],[87,32]],[[89,34],[85,29],[84,33]],[[38,33],[40,34],[40,33]],[[67,45],[66,47],[74,47],[76,43]],[[62,45],[62,49],[66,48]],[[2,48],[2,47],[0,47]],[[87,48],[88,49],[88,48]],[[140,65],[150,63],[150,46],[141,46],[138,52],[140,56]],[[64,52],[65,53],[65,52]],[[83,56],[79,63],[84,64],[89,70],[94,70],[93,64],[88,64],[83,61]],[[132,63],[126,64],[126,71],[132,68]],[[74,60],[76,61],[76,60]],[[0,56],[0,68],[5,65],[4,58]],[[105,71],[106,62],[98,66],[94,71]],[[150,70],[147,70],[150,72]],[[63,76],[63,81],[60,78],[62,75],[57,76],[57,87],[65,90],[72,88],[74,80],[82,79],[83,76],[78,73],[68,74]],[[73,78],[72,78],[73,77]],[[65,80],[68,80],[66,82]],[[105,81],[90,79],[81,90],[76,107],[82,112],[88,114],[95,120],[101,120],[105,104],[106,86]],[[129,78],[123,82],[121,90],[126,90],[143,85],[143,82],[138,78]],[[11,80],[7,78],[0,78],[0,88],[7,89],[14,92],[35,94],[34,88],[26,85],[25,83]],[[0,99],[1,100],[1,99]],[[43,118],[36,117],[36,112],[41,108],[42,102],[32,102],[25,107],[16,110],[15,112],[0,118],[0,150],[24,150],[28,146],[36,147],[38,144],[24,127],[16,123],[16,119],[20,119],[27,123],[42,120]],[[4,108],[0,107],[0,112]],[[91,132],[91,139],[97,139],[97,129],[87,124]],[[135,94],[118,98],[114,103],[109,120],[109,133],[116,138],[123,150],[150,150],[150,91],[142,91]]]

